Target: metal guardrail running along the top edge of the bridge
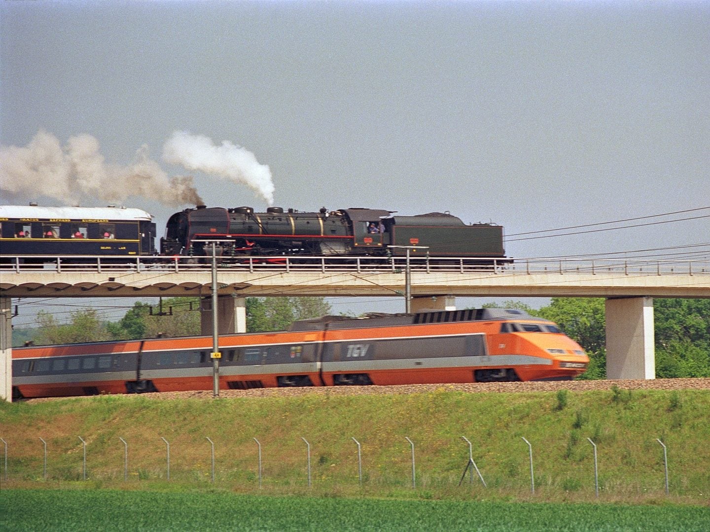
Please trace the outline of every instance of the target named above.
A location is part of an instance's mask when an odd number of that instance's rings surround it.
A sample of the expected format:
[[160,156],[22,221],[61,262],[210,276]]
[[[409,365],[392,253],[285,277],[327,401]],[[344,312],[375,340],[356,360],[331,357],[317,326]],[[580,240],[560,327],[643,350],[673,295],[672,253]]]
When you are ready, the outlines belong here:
[[[404,272],[405,257],[330,257],[330,256],[261,256],[244,257],[239,263],[227,262],[234,257],[218,257],[221,272]],[[202,261],[202,262],[200,262]],[[0,272],[195,272],[210,267],[210,257],[126,257],[124,255],[58,255],[38,257],[0,256]],[[560,275],[710,275],[710,260],[652,259],[491,259],[487,257],[413,257],[413,273],[461,274],[540,274]]]

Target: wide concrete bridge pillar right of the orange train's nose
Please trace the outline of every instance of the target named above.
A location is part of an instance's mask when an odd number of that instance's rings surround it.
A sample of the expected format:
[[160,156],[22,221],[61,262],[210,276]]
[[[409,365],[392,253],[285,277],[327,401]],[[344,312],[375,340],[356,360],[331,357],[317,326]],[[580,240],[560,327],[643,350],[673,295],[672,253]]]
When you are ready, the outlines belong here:
[[656,378],[652,297],[606,300],[606,378]]

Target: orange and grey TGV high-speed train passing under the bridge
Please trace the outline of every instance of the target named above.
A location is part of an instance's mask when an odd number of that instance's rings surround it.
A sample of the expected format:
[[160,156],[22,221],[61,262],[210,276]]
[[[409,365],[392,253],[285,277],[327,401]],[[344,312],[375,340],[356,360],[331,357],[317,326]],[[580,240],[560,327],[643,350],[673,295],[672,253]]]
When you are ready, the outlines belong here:
[[[219,337],[220,389],[572,379],[584,350],[515,309],[324,316]],[[13,396],[209,390],[212,337],[13,349]]]

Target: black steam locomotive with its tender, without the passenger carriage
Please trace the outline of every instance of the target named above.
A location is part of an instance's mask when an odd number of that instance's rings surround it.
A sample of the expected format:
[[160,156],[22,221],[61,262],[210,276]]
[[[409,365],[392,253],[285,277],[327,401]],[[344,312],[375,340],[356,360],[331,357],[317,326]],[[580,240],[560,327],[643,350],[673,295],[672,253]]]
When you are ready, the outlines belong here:
[[400,256],[405,255],[405,247],[422,248],[431,257],[505,257],[501,226],[467,226],[443,213],[393,214],[376,209],[299,212],[280,207],[255,213],[251,207],[197,206],[170,216],[165,238],[160,239],[160,254],[209,255],[209,243],[217,240],[222,257]]

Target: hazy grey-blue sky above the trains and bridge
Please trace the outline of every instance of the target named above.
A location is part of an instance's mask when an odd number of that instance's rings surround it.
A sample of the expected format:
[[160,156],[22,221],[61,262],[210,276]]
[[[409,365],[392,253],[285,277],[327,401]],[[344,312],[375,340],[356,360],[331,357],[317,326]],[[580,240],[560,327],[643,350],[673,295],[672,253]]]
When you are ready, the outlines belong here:
[[[0,17],[6,157],[78,139],[114,170],[191,177],[208,206],[449,211],[504,226],[511,257],[710,243],[707,210],[516,236],[710,206],[710,2],[3,1]],[[251,156],[273,200],[166,157],[176,135]],[[15,170],[1,204],[116,203]],[[119,202],[159,234],[194,206],[133,190]]]

